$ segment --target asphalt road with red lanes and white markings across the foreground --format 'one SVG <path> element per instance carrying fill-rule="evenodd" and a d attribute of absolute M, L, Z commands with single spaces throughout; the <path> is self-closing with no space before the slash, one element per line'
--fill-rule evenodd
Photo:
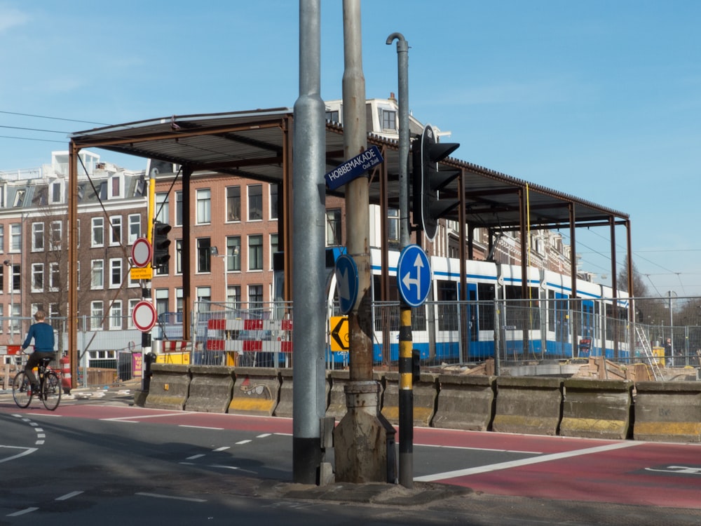
<path fill-rule="evenodd" d="M 700 445 L 415 429 L 411 490 L 310 487 L 292 483 L 290 419 L 74 393 L 55 412 L 0 393 L 0 526 L 701 523 Z"/>

